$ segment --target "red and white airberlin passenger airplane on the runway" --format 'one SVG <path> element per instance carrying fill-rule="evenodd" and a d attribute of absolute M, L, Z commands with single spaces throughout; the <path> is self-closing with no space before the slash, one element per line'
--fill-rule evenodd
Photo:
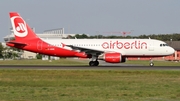
<path fill-rule="evenodd" d="M 127 57 L 152 58 L 175 52 L 156 39 L 41 39 L 17 12 L 9 15 L 15 40 L 6 42 L 7 46 L 49 56 L 90 58 L 89 66 L 98 66 L 98 60 L 123 63 Z"/>

